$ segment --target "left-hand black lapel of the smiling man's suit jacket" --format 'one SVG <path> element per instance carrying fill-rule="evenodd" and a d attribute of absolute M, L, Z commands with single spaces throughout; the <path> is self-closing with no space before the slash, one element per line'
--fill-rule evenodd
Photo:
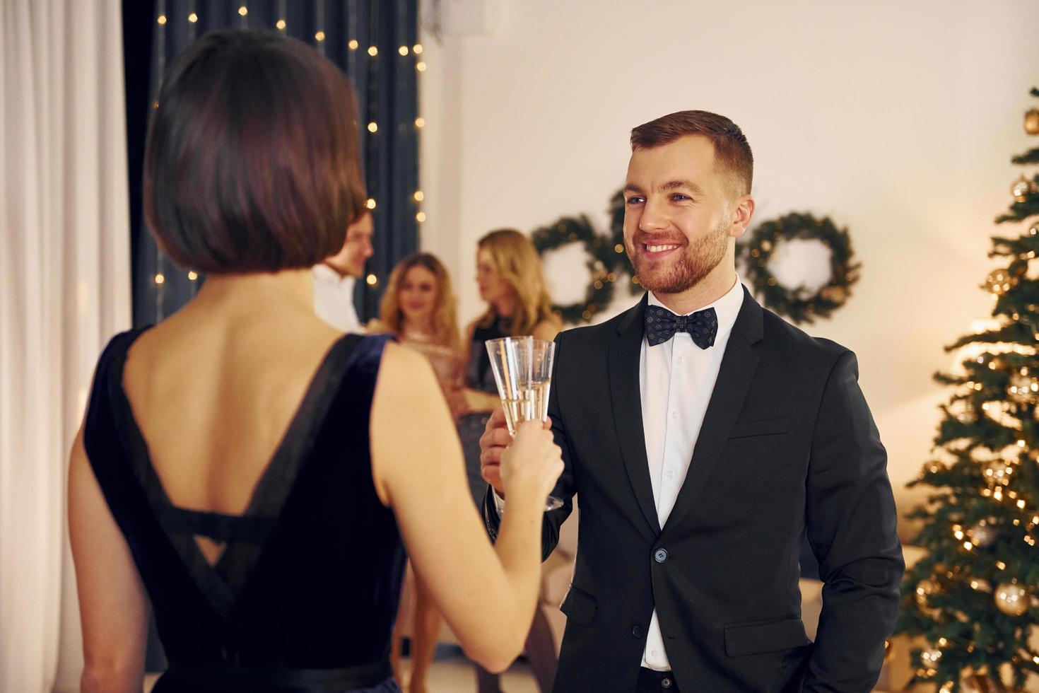
<path fill-rule="evenodd" d="M 647 295 L 631 309 L 617 327 L 617 339 L 610 344 L 610 394 L 613 421 L 620 443 L 620 453 L 628 479 L 639 508 L 652 532 L 660 535 L 657 506 L 652 500 L 649 463 L 646 460 L 645 434 L 642 428 L 642 393 L 639 388 L 639 352 L 642 347 L 643 316 Z"/>

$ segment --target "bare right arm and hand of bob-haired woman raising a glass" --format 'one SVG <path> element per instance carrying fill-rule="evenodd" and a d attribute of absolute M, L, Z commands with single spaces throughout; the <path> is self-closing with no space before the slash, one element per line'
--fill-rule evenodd
<path fill-rule="evenodd" d="M 451 630 L 491 671 L 523 649 L 537 598 L 544 496 L 562 469 L 551 434 L 531 424 L 516 444 L 521 437 L 513 453 L 523 464 L 506 482 L 509 511 L 491 547 L 432 370 L 421 355 L 387 346 L 372 404 L 376 488 Z"/>

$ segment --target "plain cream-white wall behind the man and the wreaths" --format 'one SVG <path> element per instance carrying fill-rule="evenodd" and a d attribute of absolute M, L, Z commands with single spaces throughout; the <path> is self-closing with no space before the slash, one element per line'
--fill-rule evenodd
<path fill-rule="evenodd" d="M 480 308 L 480 235 L 582 212 L 605 232 L 631 128 L 723 113 L 754 151 L 758 220 L 807 210 L 850 228 L 862 278 L 807 330 L 858 353 L 893 481 L 913 477 L 942 346 L 990 308 L 978 286 L 1010 156 L 1039 144 L 1021 128 L 1039 3 L 446 0 L 488 3 L 490 34 L 424 38 L 422 240 L 453 271 L 462 319 Z M 612 313 L 634 302 L 619 295 Z"/>

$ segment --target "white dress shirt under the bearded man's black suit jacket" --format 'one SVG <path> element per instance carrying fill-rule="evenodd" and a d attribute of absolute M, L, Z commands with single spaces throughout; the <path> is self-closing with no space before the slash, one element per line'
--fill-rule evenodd
<path fill-rule="evenodd" d="M 666 308 L 652 293 L 649 294 L 649 305 Z M 705 311 L 713 306 L 718 315 L 718 334 L 714 346 L 708 349 L 696 346 L 689 332 L 675 332 L 672 339 L 657 346 L 649 346 L 645 338 L 642 339 L 639 352 L 642 427 L 652 500 L 661 527 L 667 523 L 678 490 L 686 481 L 703 415 L 725 354 L 725 345 L 741 305 L 743 285 L 737 277 L 728 293 L 711 305 L 699 309 Z M 658 671 L 671 668 L 664 651 L 664 637 L 656 609 L 646 631 L 642 666 Z"/>

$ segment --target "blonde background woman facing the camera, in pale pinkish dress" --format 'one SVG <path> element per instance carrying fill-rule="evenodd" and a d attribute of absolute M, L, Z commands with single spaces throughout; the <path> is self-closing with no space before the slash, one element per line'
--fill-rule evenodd
<path fill-rule="evenodd" d="M 379 305 L 379 319 L 369 325 L 368 331 L 391 332 L 404 346 L 424 354 L 432 365 L 445 396 L 457 392 L 464 364 L 458 334 L 457 299 L 451 288 L 451 276 L 435 256 L 416 252 L 397 263 Z M 425 693 L 442 617 L 422 576 L 414 571 L 411 575 L 415 578 L 411 583 L 415 587 L 415 612 L 407 690 Z M 398 679 L 401 678 L 402 627 L 398 617 L 391 652 Z"/>

